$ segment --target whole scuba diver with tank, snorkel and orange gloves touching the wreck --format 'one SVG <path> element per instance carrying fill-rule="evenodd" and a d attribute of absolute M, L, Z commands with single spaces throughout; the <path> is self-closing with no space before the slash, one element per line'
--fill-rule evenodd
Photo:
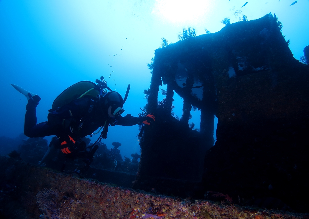
<path fill-rule="evenodd" d="M 108 126 L 133 126 L 142 123 L 150 125 L 155 121 L 152 113 L 144 117 L 133 117 L 130 114 L 121 116 L 125 111 L 123 105 L 128 97 L 130 84 L 123 99 L 118 92 L 112 91 L 107 86 L 103 76 L 101 80 L 97 79 L 95 82 L 97 84 L 91 81 L 80 81 L 64 90 L 54 100 L 47 116 L 48 121 L 39 124 L 36 124 L 36 106 L 41 98 L 18 85 L 11 84 L 28 99 L 24 134 L 29 138 L 57 136 L 52 138 L 40 164 L 53 159 L 57 149 L 61 149 L 66 158 L 83 159 L 83 164 L 74 171 L 75 175 L 80 176 L 90 167 L 101 140 L 107 138 Z M 99 127 L 103 128 L 99 138 L 94 144 L 86 147 L 83 138 L 98 134 L 101 129 L 94 132 Z"/>

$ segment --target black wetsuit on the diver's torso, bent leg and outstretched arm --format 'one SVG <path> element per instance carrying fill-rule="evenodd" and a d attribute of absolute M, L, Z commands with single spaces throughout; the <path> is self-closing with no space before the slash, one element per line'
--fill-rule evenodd
<path fill-rule="evenodd" d="M 127 114 L 118 116 L 117 125 L 133 126 L 141 124 L 145 118 L 133 117 Z M 83 138 L 92 134 L 99 127 L 108 124 L 107 115 L 102 113 L 98 101 L 86 96 L 62 106 L 48 114 L 48 121 L 36 124 L 36 104 L 29 101 L 26 106 L 24 134 L 30 138 L 56 135 Z"/>

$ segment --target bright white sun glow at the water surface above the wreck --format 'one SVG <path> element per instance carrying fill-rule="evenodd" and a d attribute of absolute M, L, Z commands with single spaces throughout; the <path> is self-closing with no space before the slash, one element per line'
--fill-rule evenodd
<path fill-rule="evenodd" d="M 171 23 L 195 23 L 210 8 L 210 2 L 200 0 L 156 0 L 153 14 Z"/>

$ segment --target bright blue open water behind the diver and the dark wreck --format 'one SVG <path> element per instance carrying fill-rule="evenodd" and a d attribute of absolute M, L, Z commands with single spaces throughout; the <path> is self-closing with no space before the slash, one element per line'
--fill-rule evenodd
<path fill-rule="evenodd" d="M 296 59 L 309 44 L 309 0 L 205 0 L 205 1 L 0 1 L 0 136 L 15 138 L 23 132 L 27 100 L 11 83 L 40 95 L 38 122 L 64 89 L 78 81 L 104 76 L 108 86 L 125 95 L 131 85 L 125 114 L 137 116 L 144 107 L 144 89 L 150 86 L 147 64 L 161 38 L 178 41 L 182 28 L 194 27 L 197 35 L 220 31 L 222 19 L 238 22 L 273 13 L 283 24 Z M 243 6 L 243 7 L 242 7 Z M 163 89 L 166 89 L 164 85 Z M 163 96 L 159 93 L 159 100 Z M 174 112 L 182 115 L 182 100 L 174 96 Z M 199 128 L 200 113 L 190 122 Z M 122 156 L 140 153 L 138 126 L 115 126 L 104 140 L 122 144 Z M 96 140 L 96 136 L 92 141 Z M 215 136 L 214 136 L 215 138 Z M 48 138 L 50 139 L 50 138 Z M 0 151 L 1 154 L 1 151 Z"/>

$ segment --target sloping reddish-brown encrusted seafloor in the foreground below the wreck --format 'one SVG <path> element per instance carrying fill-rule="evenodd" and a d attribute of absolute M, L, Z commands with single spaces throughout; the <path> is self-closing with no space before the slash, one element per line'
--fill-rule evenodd
<path fill-rule="evenodd" d="M 155 195 L 14 158 L 0 157 L 0 165 L 1 218 L 309 218 L 307 213 Z"/>

